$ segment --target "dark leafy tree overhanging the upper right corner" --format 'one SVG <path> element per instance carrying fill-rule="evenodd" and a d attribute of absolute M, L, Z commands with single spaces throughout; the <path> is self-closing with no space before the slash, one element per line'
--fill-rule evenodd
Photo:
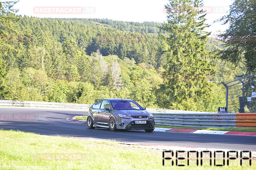
<path fill-rule="evenodd" d="M 248 73 L 256 71 L 256 1 L 234 0 L 229 14 L 220 19 L 229 28 L 220 37 L 225 50 L 220 51 L 223 60 L 236 65 L 245 61 Z"/>

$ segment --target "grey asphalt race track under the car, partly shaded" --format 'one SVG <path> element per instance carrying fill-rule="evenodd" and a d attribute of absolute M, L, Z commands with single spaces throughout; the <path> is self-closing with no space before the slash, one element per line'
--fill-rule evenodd
<path fill-rule="evenodd" d="M 6 115 L 25 115 L 29 121 L 6 119 Z M 0 129 L 34 132 L 42 135 L 60 135 L 65 137 L 115 139 L 153 145 L 171 145 L 187 147 L 218 148 L 230 150 L 256 151 L 255 136 L 192 134 L 177 132 L 116 131 L 108 129 L 88 129 L 85 124 L 67 121 L 76 115 L 87 115 L 88 111 L 0 107 Z"/>

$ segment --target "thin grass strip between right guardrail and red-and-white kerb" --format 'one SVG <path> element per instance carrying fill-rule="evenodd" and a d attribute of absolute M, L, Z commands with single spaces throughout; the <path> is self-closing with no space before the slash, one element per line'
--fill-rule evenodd
<path fill-rule="evenodd" d="M 198 129 L 198 130 L 212 130 L 212 131 L 241 131 L 241 132 L 256 132 L 256 129 L 249 128 L 214 128 L 214 127 L 182 127 L 182 126 L 168 126 L 156 125 L 159 128 L 174 128 L 174 129 Z"/>

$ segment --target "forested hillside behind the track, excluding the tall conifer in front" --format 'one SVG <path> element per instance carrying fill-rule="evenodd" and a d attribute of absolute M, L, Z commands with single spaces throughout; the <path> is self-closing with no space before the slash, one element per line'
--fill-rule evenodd
<path fill-rule="evenodd" d="M 216 110 L 222 99 L 216 102 L 215 97 L 206 101 L 199 96 L 200 104 L 194 99 L 183 104 L 163 103 L 166 77 L 162 73 L 167 56 L 160 53 L 164 45 L 158 35 L 160 25 L 20 16 L 13 23 L 15 34 L 0 37 L 5 45 L 0 46 L 0 57 L 7 66 L 5 94 L 0 98 L 91 103 L 94 98 L 122 96 L 146 107 Z M 221 41 L 209 38 L 205 48 L 214 51 L 223 47 Z M 216 64 L 218 72 L 212 80 L 233 76 L 230 65 L 218 58 L 208 60 Z M 213 86 L 212 96 L 224 94 L 218 84 Z"/>

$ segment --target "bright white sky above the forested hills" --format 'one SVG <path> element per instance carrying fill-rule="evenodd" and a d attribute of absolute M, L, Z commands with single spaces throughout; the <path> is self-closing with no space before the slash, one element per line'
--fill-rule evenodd
<path fill-rule="evenodd" d="M 14 8 L 19 10 L 18 15 L 38 18 L 108 18 L 163 23 L 167 3 L 168 0 L 20 0 Z M 212 32 L 211 37 L 224 32 L 228 25 L 213 22 L 227 14 L 232 0 L 203 0 L 203 3 L 208 11 L 206 23 L 211 25 L 206 31 Z M 61 12 L 67 9 L 69 11 Z"/>

